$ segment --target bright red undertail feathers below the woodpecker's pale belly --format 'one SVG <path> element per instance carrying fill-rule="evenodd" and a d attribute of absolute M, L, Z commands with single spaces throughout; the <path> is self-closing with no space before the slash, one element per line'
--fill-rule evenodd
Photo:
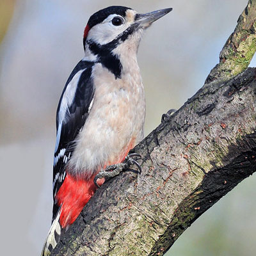
<path fill-rule="evenodd" d="M 67 174 L 56 198 L 61 205 L 60 225 L 62 228 L 71 225 L 84 205 L 88 203 L 97 187 L 93 183 L 94 175 L 90 180 L 76 179 Z M 100 185 L 100 184 L 99 184 Z"/>

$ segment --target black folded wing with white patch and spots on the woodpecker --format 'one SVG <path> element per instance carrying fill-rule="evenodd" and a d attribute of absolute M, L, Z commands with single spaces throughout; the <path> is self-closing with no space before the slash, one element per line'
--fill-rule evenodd
<path fill-rule="evenodd" d="M 53 166 L 53 209 L 52 221 L 58 213 L 55 199 L 56 193 L 66 176 L 65 165 L 72 156 L 72 142 L 83 128 L 89 114 L 95 88 L 92 83 L 92 67 L 90 61 L 80 61 L 65 84 L 61 94 L 56 115 L 57 138 Z"/>

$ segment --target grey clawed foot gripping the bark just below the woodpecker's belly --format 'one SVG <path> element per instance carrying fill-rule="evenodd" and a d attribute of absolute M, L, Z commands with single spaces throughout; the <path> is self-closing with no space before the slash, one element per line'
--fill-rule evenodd
<path fill-rule="evenodd" d="M 120 172 L 123 172 L 124 170 L 127 170 L 132 164 L 135 164 L 138 167 L 138 170 L 141 173 L 141 166 L 140 164 L 133 159 L 132 157 L 138 157 L 138 159 L 141 158 L 140 154 L 132 153 L 125 157 L 123 163 L 118 164 L 111 164 L 109 165 L 105 170 L 101 170 L 93 179 L 94 184 L 100 188 L 100 186 L 97 184 L 98 179 L 104 178 L 105 181 L 109 180 L 116 175 L 118 175 Z"/>

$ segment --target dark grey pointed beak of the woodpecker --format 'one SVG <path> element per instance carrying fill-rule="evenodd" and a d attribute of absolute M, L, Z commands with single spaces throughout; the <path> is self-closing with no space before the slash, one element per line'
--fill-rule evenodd
<path fill-rule="evenodd" d="M 154 12 L 144 13 L 144 14 L 136 14 L 135 16 L 135 22 L 138 22 L 141 26 L 144 28 L 147 28 L 150 26 L 154 21 L 160 19 L 167 13 L 171 12 L 172 8 L 166 8 L 163 10 L 158 10 Z"/>

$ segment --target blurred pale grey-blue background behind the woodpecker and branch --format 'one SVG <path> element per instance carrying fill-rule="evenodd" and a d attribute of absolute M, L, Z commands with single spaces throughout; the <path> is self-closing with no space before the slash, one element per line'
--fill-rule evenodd
<path fill-rule="evenodd" d="M 204 84 L 247 0 L 1 0 L 1 255 L 40 255 L 51 225 L 55 114 L 83 29 L 109 5 L 173 7 L 141 41 L 145 135 Z M 251 66 L 256 66 L 252 61 Z M 166 255 L 255 255 L 256 176 L 244 180 L 182 234 Z M 121 256 L 121 255 L 120 255 Z"/>

